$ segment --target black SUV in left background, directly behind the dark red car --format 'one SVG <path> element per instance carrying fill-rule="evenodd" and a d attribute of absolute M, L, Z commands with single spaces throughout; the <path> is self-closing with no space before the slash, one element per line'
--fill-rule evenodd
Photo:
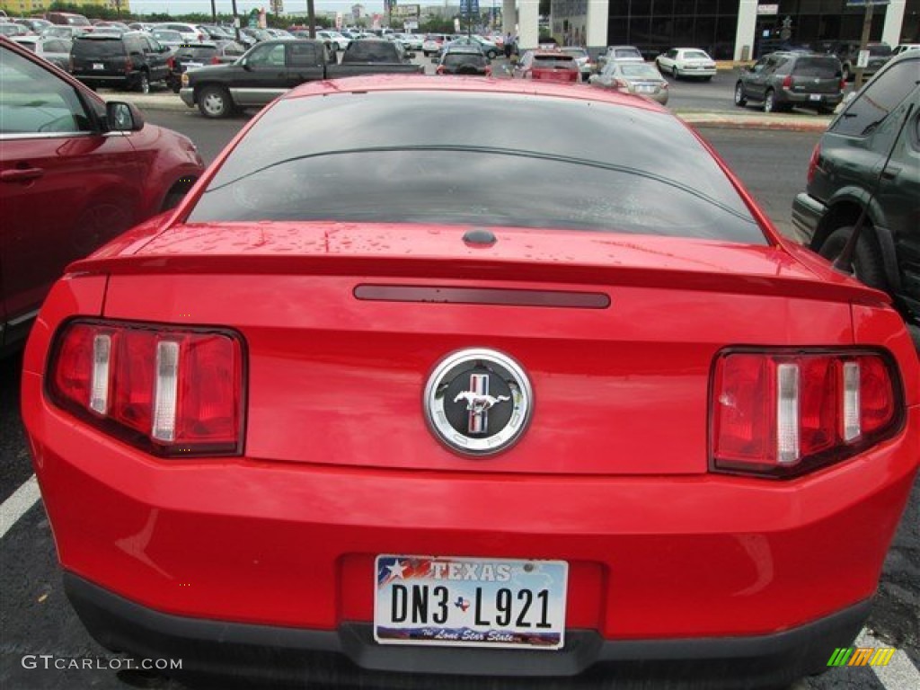
<path fill-rule="evenodd" d="M 70 71 L 87 86 L 150 92 L 166 82 L 172 51 L 143 31 L 77 36 L 70 50 Z"/>

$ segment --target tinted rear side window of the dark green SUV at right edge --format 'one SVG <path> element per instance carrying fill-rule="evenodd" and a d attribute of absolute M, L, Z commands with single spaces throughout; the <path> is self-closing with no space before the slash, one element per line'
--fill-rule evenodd
<path fill-rule="evenodd" d="M 831 131 L 867 136 L 916 88 L 920 60 L 904 60 L 873 79 L 831 125 Z"/>

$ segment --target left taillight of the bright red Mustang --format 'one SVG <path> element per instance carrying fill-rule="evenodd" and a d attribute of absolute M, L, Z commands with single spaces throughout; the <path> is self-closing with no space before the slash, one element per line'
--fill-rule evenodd
<path fill-rule="evenodd" d="M 227 331 L 76 321 L 57 336 L 49 393 L 154 454 L 240 454 L 243 367 Z"/>

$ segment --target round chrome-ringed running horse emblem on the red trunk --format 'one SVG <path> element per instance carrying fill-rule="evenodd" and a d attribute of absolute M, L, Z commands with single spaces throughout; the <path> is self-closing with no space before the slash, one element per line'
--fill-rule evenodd
<path fill-rule="evenodd" d="M 533 390 L 521 365 L 494 350 L 448 355 L 425 386 L 431 431 L 466 455 L 495 454 L 517 442 L 533 407 Z"/>

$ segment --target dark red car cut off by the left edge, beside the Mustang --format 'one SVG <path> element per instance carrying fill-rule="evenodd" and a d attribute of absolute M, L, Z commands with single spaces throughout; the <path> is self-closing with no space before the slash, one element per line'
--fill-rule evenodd
<path fill-rule="evenodd" d="M 67 264 L 174 207 L 204 166 L 186 137 L 144 124 L 127 103 L 107 105 L 26 48 L 0 39 L 0 64 L 0 353 L 9 353 Z"/>

